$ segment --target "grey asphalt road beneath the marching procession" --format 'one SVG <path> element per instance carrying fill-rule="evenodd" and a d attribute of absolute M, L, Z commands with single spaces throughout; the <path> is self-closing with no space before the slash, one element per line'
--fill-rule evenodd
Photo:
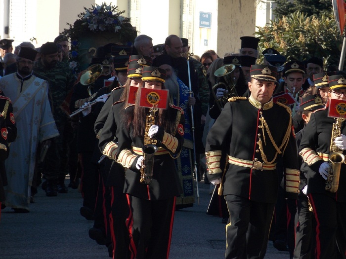
<path fill-rule="evenodd" d="M 66 179 L 66 182 L 68 180 Z M 199 183 L 200 205 L 175 213 L 170 259 L 222 259 L 225 224 L 206 215 L 209 185 Z M 2 210 L 0 221 L 1 259 L 106 259 L 107 248 L 88 236 L 92 221 L 79 214 L 82 198 L 78 190 L 46 197 L 39 188 L 30 213 Z M 289 259 L 268 243 L 267 259 Z"/>

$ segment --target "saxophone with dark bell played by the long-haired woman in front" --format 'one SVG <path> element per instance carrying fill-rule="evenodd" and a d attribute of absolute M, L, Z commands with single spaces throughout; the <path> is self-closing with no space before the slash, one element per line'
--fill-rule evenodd
<path fill-rule="evenodd" d="M 145 122 L 145 133 L 144 133 L 144 146 L 142 147 L 143 152 L 143 161 L 142 166 L 140 167 L 140 182 L 149 184 L 153 178 L 154 170 L 154 156 L 157 151 L 157 140 L 154 140 L 148 136 L 149 128 L 152 125 L 155 125 L 155 112 L 157 111 L 156 107 L 152 107 L 149 110 L 149 114 L 146 117 Z"/>

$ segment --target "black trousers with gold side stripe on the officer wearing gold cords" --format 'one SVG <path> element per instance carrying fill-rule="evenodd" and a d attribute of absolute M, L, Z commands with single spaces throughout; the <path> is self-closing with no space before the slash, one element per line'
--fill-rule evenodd
<path fill-rule="evenodd" d="M 230 223 L 226 226 L 225 258 L 264 258 L 274 203 L 226 195 Z"/>

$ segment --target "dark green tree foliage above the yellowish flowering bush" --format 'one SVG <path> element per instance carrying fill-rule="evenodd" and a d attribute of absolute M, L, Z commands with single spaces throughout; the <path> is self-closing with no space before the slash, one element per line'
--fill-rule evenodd
<path fill-rule="evenodd" d="M 276 8 L 273 13 L 276 18 L 282 18 L 288 16 L 293 12 L 303 12 L 308 16 L 319 16 L 323 12 L 331 10 L 332 3 L 330 0 L 275 0 Z"/>

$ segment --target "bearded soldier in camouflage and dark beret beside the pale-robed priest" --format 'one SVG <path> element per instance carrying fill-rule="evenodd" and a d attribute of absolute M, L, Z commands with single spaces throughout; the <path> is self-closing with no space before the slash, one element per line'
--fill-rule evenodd
<path fill-rule="evenodd" d="M 47 42 L 40 49 L 40 58 L 34 64 L 37 74 L 49 78 L 49 90 L 52 94 L 53 117 L 60 136 L 55 137 L 48 148 L 44 161 L 44 174 L 47 181 L 46 195 L 56 196 L 57 192 L 66 193 L 64 184 L 67 175 L 68 139 L 71 136 L 69 116 L 60 108 L 72 89 L 75 77 L 65 63 L 57 60 L 58 47 Z"/>

